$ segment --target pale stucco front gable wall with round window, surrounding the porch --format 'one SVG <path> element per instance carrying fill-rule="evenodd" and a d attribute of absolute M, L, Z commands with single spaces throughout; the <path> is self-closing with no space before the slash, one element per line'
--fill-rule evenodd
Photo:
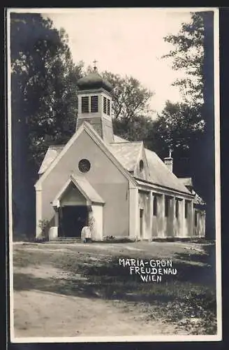
<path fill-rule="evenodd" d="M 87 158 L 91 163 L 91 169 L 85 174 L 78 169 L 78 162 L 82 158 Z M 129 234 L 128 179 L 84 131 L 43 180 L 40 217 L 50 221 L 54 218 L 52 201 L 72 172 L 76 176 L 84 176 L 105 201 L 103 236 L 127 237 Z"/>

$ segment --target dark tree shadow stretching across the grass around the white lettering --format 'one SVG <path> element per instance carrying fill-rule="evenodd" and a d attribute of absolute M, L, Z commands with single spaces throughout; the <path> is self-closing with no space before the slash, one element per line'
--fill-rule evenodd
<path fill-rule="evenodd" d="M 63 269 L 64 276 L 37 278 L 34 274 L 15 272 L 14 289 L 154 304 L 179 303 L 185 304 L 189 314 L 195 309 L 195 316 L 203 311 L 215 314 L 214 248 L 204 254 L 177 254 L 175 258 L 173 267 L 177 274 L 162 276 L 161 283 L 145 283 L 139 274 L 131 275 L 128 267 L 120 266 L 119 257 L 107 259 L 99 256 L 97 260 L 89 261 L 84 254 L 61 258 L 50 255 L 50 262 Z"/>

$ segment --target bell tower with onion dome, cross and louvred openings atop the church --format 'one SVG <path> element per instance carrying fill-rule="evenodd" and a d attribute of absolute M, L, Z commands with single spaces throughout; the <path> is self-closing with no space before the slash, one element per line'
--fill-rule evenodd
<path fill-rule="evenodd" d="M 112 127 L 112 85 L 98 73 L 96 61 L 94 71 L 77 81 L 78 116 L 76 130 L 84 121 L 91 124 L 103 141 L 114 141 Z"/>

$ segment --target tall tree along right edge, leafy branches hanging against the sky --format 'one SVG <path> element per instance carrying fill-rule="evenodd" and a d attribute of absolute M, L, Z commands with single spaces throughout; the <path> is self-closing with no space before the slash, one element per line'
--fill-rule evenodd
<path fill-rule="evenodd" d="M 195 177 L 195 188 L 207 202 L 207 235 L 214 237 L 214 12 L 191 14 L 191 22 L 183 23 L 177 35 L 165 37 L 172 43 L 168 57 L 172 67 L 184 71 L 185 78 L 174 85 L 180 87 L 184 102 L 194 106 L 200 120 L 204 120 L 204 132 L 192 144 L 190 165 Z"/>

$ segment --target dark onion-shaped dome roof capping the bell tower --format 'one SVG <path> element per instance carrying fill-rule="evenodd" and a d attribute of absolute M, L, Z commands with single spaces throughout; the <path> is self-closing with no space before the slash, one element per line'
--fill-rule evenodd
<path fill-rule="evenodd" d="M 84 76 L 84 78 L 81 78 L 77 81 L 77 86 L 79 87 L 79 90 L 93 90 L 93 89 L 99 89 L 103 87 L 103 89 L 110 92 L 113 87 L 109 83 L 108 80 L 104 79 L 97 71 L 96 67 L 94 67 L 94 71 L 89 73 L 87 76 Z"/>

